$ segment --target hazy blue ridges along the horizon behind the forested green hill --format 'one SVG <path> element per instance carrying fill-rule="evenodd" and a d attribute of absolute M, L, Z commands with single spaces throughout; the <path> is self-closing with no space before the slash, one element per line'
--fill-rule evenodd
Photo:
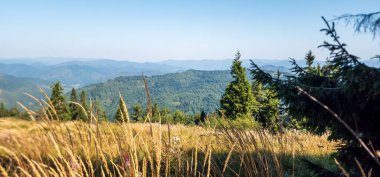
<path fill-rule="evenodd" d="M 54 58 L 53 58 L 54 60 Z M 161 62 L 130 62 L 109 59 L 86 60 L 81 58 L 61 59 L 57 62 L 41 59 L 0 60 L 0 73 L 16 77 L 37 78 L 45 81 L 60 81 L 67 89 L 104 82 L 118 76 L 146 76 L 195 70 L 228 70 L 232 60 L 166 60 Z M 70 60 L 70 61 L 69 61 Z M 286 60 L 255 60 L 266 70 L 288 71 Z M 243 65 L 249 67 L 248 60 Z"/>

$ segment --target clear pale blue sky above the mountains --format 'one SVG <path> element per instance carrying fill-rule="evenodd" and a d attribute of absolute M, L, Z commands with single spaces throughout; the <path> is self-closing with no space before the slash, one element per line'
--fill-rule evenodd
<path fill-rule="evenodd" d="M 2 0 L 0 58 L 325 58 L 321 16 L 379 10 L 379 0 Z M 337 29 L 352 53 L 380 53 L 380 38 Z"/>

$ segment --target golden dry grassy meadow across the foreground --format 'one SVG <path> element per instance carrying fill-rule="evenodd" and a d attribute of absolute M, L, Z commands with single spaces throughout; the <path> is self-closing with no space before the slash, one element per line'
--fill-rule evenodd
<path fill-rule="evenodd" d="M 0 119 L 0 176 L 311 176 L 327 135 L 150 123 Z"/>

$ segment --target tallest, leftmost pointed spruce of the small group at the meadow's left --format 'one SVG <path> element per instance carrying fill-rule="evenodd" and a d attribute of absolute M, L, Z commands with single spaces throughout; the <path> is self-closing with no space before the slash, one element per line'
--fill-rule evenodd
<path fill-rule="evenodd" d="M 63 87 L 62 87 L 61 83 L 59 81 L 54 83 L 51 86 L 51 89 L 52 89 L 52 93 L 51 93 L 50 100 L 53 104 L 52 106 L 53 106 L 54 110 L 57 113 L 57 119 L 58 120 L 70 120 L 70 111 L 69 111 L 69 107 L 67 106 L 65 97 L 63 96 Z M 52 111 L 52 110 L 50 109 L 50 111 Z M 55 115 L 53 115 L 53 116 L 55 116 Z"/>

